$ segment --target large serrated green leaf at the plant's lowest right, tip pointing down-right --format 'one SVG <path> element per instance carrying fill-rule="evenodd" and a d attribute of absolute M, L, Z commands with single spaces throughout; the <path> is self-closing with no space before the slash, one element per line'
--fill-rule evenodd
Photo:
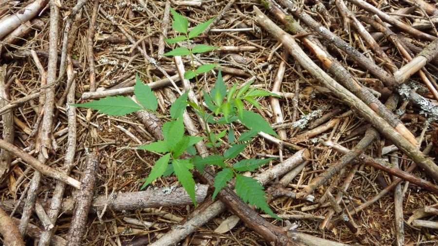
<path fill-rule="evenodd" d="M 265 211 L 277 220 L 282 220 L 269 207 L 266 202 L 265 192 L 263 186 L 254 178 L 236 175 L 236 193 L 244 202 L 251 205 L 256 205 L 257 208 Z"/>

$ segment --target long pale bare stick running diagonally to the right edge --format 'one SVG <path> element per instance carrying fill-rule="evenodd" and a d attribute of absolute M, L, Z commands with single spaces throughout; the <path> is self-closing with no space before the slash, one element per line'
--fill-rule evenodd
<path fill-rule="evenodd" d="M 333 94 L 343 100 L 352 109 L 357 111 L 366 121 L 372 123 L 384 136 L 393 141 L 406 155 L 412 158 L 422 168 L 426 170 L 426 174 L 438 180 L 438 166 L 429 157 L 423 155 L 412 143 L 407 141 L 400 133 L 398 133 L 389 123 L 383 120 L 376 112 L 369 108 L 354 94 L 346 88 L 339 85 L 333 80 L 324 70 L 319 68 L 307 54 L 296 44 L 294 38 L 281 30 L 269 18 L 255 7 L 257 22 L 266 29 L 271 35 L 283 43 L 283 46 L 288 50 L 295 60 L 306 69 L 314 78 L 320 81 L 325 87 L 329 88 Z"/>

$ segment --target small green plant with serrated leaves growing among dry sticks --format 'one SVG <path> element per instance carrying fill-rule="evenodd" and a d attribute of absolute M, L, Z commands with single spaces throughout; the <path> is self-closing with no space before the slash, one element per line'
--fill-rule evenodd
<path fill-rule="evenodd" d="M 173 9 L 171 9 L 171 13 L 173 16 L 172 27 L 174 31 L 181 35 L 166 39 L 165 41 L 169 44 L 190 41 L 200 35 L 214 20 L 214 18 L 209 19 L 195 26 L 191 31 L 188 31 L 188 19 Z M 219 191 L 227 185 L 227 182 L 235 178 L 236 193 L 244 202 L 255 205 L 274 218 L 280 219 L 269 207 L 263 186 L 258 183 L 256 179 L 242 175 L 242 172 L 255 171 L 259 166 L 271 161 L 273 158 L 251 158 L 234 162 L 245 147 L 253 141 L 253 138 L 258 132 L 277 136 L 270 124 L 262 116 L 253 111 L 244 109 L 243 102 L 246 101 L 260 108 L 260 105 L 256 101 L 257 97 L 277 95 L 265 90 L 250 88 L 252 83 L 246 83 L 240 88 L 238 88 L 238 84 L 235 83 L 232 88 L 227 90 L 220 70 L 216 84 L 211 92 L 207 93 L 202 89 L 202 93 L 200 93 L 201 87 L 197 75 L 209 72 L 219 64 L 204 64 L 195 68 L 194 54 L 210 52 L 216 49 L 219 48 L 208 45 L 196 45 L 191 48 L 178 47 L 168 53 L 164 53 L 166 56 L 183 55 L 189 57 L 191 69 L 185 72 L 184 78 L 195 79 L 198 94 L 203 94 L 203 98 L 201 97 L 200 104 L 198 105 L 187 100 L 188 91 L 180 95 L 170 106 L 170 117 L 172 120 L 163 124 L 164 140 L 151 142 L 138 147 L 139 149 L 163 154 L 163 156 L 155 162 L 149 176 L 144 180 L 145 183 L 142 189 L 158 177 L 175 174 L 196 206 L 195 181 L 191 170 L 196 168 L 203 173 L 206 165 L 214 165 L 218 166 L 221 170 L 215 176 L 213 199 Z M 134 95 L 138 103 L 129 97 L 116 96 L 106 97 L 84 104 L 77 104 L 75 106 L 98 109 L 101 113 L 108 115 L 125 115 L 137 110 L 155 111 L 157 109 L 157 98 L 152 90 L 142 83 L 138 75 L 136 75 Z M 186 110 L 187 105 L 190 105 L 191 109 L 200 115 L 202 121 L 205 123 L 205 137 L 184 135 L 183 112 Z M 214 130 L 209 130 L 209 124 L 217 128 L 219 125 L 236 121 L 240 121 L 240 123 L 245 125 L 249 130 L 243 132 L 240 137 L 235 140 L 234 131 L 230 126 L 227 136 L 230 147 L 223 151 L 223 153 L 220 153 L 218 148 L 223 144 L 227 130 L 216 134 Z M 200 155 L 197 155 L 193 145 L 204 139 L 206 139 L 207 142 L 205 145 L 211 149 L 211 153 L 209 153 L 209 156 L 202 158 Z M 191 155 L 192 158 L 181 158 L 185 152 Z"/>

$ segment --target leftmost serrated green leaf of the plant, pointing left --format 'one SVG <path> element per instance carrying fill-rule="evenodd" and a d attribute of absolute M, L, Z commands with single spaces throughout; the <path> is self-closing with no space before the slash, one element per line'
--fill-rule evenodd
<path fill-rule="evenodd" d="M 115 96 L 105 97 L 100 100 L 94 100 L 83 104 L 72 104 L 75 107 L 86 107 L 99 110 L 100 113 L 108 115 L 126 115 L 143 109 L 129 97 Z"/>

